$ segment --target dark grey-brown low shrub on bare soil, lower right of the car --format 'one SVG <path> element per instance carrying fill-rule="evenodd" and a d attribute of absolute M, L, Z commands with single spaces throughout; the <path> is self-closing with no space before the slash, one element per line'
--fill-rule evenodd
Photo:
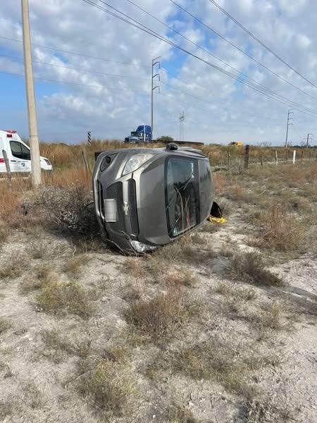
<path fill-rule="evenodd" d="M 282 285 L 282 280 L 265 268 L 263 259 L 257 252 L 240 252 L 235 255 L 230 271 L 236 278 L 253 285 Z"/>

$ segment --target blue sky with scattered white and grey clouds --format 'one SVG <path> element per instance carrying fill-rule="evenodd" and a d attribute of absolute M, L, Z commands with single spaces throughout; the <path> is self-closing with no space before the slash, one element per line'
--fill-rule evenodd
<path fill-rule="evenodd" d="M 41 140 L 78 142 L 87 130 L 94 137 L 123 140 L 137 125 L 149 124 L 151 59 L 161 56 L 161 68 L 155 68 L 160 75 L 154 91 L 155 136 L 179 138 L 184 111 L 186 140 L 279 145 L 285 142 L 287 109 L 292 108 L 290 142 L 300 144 L 313 133 L 316 143 L 316 1 L 216 0 L 306 80 L 210 0 L 89 1 L 116 14 L 110 6 L 117 8 L 126 20 L 137 20 L 231 76 L 83 0 L 29 0 Z M 20 0 L 3 0 L 0 128 L 26 136 L 21 39 Z"/>

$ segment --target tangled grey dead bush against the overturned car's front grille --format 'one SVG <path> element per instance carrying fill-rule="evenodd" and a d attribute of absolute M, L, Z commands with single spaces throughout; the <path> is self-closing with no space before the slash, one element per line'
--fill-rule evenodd
<path fill-rule="evenodd" d="M 86 185 L 43 186 L 32 205 L 63 231 L 89 235 L 99 233 L 92 196 Z"/>

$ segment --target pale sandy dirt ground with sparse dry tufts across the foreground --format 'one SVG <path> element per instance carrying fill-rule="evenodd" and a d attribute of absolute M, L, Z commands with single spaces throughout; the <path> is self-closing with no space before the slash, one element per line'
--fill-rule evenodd
<path fill-rule="evenodd" d="M 227 223 L 146 257 L 83 252 L 58 231 L 11 231 L 0 253 L 0 421 L 316 422 L 316 252 L 266 249 L 277 283 L 232 273 L 232 257 L 262 251 L 246 214 L 265 209 L 232 192 L 222 192 Z M 52 305 L 44 278 L 80 284 L 87 313 L 74 298 Z M 185 314 L 164 326 L 150 300 L 168 298 L 172 284 Z M 127 314 L 140 302 L 143 326 L 144 315 Z M 150 326 L 154 317 L 166 331 Z"/>

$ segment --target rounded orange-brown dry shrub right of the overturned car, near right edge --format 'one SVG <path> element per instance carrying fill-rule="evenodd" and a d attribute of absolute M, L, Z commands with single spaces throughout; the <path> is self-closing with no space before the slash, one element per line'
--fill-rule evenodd
<path fill-rule="evenodd" d="M 273 204 L 263 215 L 263 245 L 274 250 L 292 251 L 302 247 L 305 232 L 303 226 L 287 215 L 285 207 Z"/>

